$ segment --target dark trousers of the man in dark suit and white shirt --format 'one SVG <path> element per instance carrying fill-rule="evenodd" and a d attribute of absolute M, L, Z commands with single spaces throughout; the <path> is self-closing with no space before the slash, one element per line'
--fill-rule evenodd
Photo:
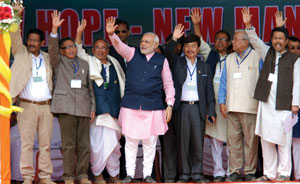
<path fill-rule="evenodd" d="M 198 104 L 180 104 L 174 114 L 177 121 L 179 179 L 195 181 L 203 175 L 203 144 L 205 121 Z"/>

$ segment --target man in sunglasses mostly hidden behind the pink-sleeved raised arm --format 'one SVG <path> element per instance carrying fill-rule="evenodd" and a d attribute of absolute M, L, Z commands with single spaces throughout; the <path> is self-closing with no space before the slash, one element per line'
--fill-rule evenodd
<path fill-rule="evenodd" d="M 115 32 L 116 35 L 118 35 L 118 37 L 120 38 L 120 40 L 122 40 L 123 43 L 128 45 L 128 37 L 130 35 L 129 24 L 126 21 L 119 19 L 116 21 L 116 25 L 118 25 Z M 111 55 L 119 61 L 124 73 L 126 73 L 126 60 L 115 50 L 113 46 L 109 47 L 109 55 Z"/>

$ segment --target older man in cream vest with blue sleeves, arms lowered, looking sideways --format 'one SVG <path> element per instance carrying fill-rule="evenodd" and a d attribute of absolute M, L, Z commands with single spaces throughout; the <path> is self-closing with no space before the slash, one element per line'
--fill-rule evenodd
<path fill-rule="evenodd" d="M 245 180 L 253 181 L 258 149 L 258 137 L 254 134 L 258 101 L 253 95 L 263 61 L 251 49 L 244 30 L 235 31 L 232 47 L 235 52 L 224 63 L 218 99 L 221 114 L 228 120 L 230 177 L 227 181 L 241 181 L 244 158 Z"/>

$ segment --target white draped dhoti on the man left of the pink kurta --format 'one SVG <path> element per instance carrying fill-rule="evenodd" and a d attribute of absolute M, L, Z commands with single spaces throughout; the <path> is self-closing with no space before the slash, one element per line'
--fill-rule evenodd
<path fill-rule="evenodd" d="M 95 176 L 99 176 L 106 168 L 109 175 L 115 177 L 120 172 L 121 146 L 119 140 L 121 132 L 116 130 L 117 119 L 108 116 L 110 115 L 98 116 L 90 126 L 90 163 Z"/>

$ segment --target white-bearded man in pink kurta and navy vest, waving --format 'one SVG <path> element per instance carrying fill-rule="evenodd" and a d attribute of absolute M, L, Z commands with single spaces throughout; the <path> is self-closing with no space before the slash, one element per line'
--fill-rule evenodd
<path fill-rule="evenodd" d="M 155 183 L 151 178 L 158 135 L 168 130 L 172 116 L 175 89 L 167 59 L 154 51 L 159 39 L 154 33 L 145 33 L 140 49 L 124 44 L 115 34 L 115 18 L 106 20 L 106 32 L 116 51 L 126 59 L 125 94 L 121 101 L 119 123 L 126 139 L 125 157 L 127 177 L 123 183 L 132 183 L 135 161 L 140 141 L 143 143 L 143 175 L 145 183 Z M 166 110 L 163 104 L 166 94 Z"/>

